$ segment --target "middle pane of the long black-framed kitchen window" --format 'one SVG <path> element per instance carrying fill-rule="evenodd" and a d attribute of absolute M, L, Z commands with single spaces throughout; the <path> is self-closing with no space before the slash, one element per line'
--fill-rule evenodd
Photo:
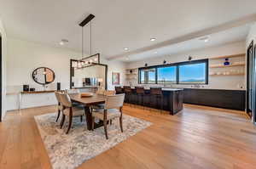
<path fill-rule="evenodd" d="M 157 83 L 176 83 L 176 66 L 166 66 L 157 69 Z"/>

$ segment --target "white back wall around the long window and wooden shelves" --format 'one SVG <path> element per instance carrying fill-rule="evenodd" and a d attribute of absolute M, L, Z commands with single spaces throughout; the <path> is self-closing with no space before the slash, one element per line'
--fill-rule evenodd
<path fill-rule="evenodd" d="M 245 53 L 246 42 L 234 42 L 230 44 L 221 45 L 212 48 L 202 48 L 193 51 L 185 52 L 183 54 L 173 54 L 172 56 L 162 56 L 158 58 L 152 58 L 142 61 L 131 62 L 126 65 L 128 69 L 143 67 L 145 63 L 149 65 L 162 65 L 165 59 L 167 63 L 183 62 L 188 60 L 188 56 L 192 56 L 195 59 L 207 59 L 214 56 L 230 55 L 230 54 L 243 54 Z M 245 61 L 245 58 L 230 59 L 232 61 Z M 210 60 L 211 64 L 221 64 L 221 60 Z M 214 68 L 215 69 L 215 68 Z M 217 68 L 217 69 L 241 69 L 245 70 L 244 67 L 232 67 L 232 68 Z M 209 70 L 213 71 L 212 69 Z M 221 71 L 221 70 L 214 70 Z M 192 87 L 191 85 L 172 85 L 172 87 Z M 202 85 L 205 88 L 214 89 L 232 89 L 232 90 L 244 90 L 245 89 L 245 76 L 209 76 L 209 84 Z"/>

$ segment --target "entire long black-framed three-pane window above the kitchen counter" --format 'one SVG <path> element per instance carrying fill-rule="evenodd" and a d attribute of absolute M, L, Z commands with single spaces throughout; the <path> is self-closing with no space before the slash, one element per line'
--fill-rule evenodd
<path fill-rule="evenodd" d="M 208 59 L 139 68 L 140 84 L 208 84 Z"/>

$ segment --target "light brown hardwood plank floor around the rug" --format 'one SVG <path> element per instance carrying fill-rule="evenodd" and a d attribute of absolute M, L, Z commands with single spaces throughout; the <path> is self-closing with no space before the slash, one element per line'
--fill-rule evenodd
<path fill-rule="evenodd" d="M 55 106 L 9 112 L 0 123 L 0 168 L 51 168 L 33 115 Z M 256 168 L 256 127 L 241 111 L 184 105 L 177 115 L 124 107 L 154 124 L 79 168 Z"/>

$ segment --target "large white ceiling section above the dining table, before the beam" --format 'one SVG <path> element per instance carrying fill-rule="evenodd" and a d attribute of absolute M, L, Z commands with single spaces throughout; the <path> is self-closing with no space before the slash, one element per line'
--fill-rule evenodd
<path fill-rule="evenodd" d="M 78 51 L 81 48 L 79 22 L 88 14 L 95 14 L 92 22 L 93 53 L 99 52 L 112 59 L 124 57 L 124 48 L 129 48 L 128 53 L 132 53 L 246 18 L 256 11 L 255 0 L 0 0 L 0 4 L 0 18 L 8 36 L 55 46 L 59 46 L 64 38 L 69 40 L 64 48 Z M 239 34 L 234 40 L 241 39 L 247 28 L 237 29 L 233 34 L 233 31 L 229 32 L 230 35 Z M 85 27 L 84 31 L 84 48 L 89 51 L 89 27 Z M 150 42 L 151 37 L 157 37 L 157 40 Z M 221 35 L 216 38 L 219 37 Z M 229 39 L 231 41 L 231 37 Z M 184 48 L 189 48 L 191 44 L 187 40 L 183 39 Z M 171 52 L 179 44 L 175 45 Z M 195 46 L 198 48 L 200 45 Z M 169 50 L 161 48 L 163 54 Z M 150 50 L 143 52 L 152 56 Z M 139 58 L 141 52 L 133 54 L 138 54 Z"/>

